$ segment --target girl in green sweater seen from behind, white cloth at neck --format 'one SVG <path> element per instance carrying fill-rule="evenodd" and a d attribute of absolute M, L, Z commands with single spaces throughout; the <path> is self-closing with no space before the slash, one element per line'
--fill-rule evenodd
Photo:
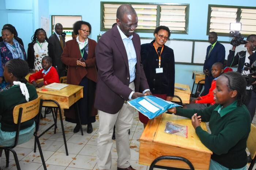
<path fill-rule="evenodd" d="M 28 73 L 29 66 L 22 59 L 12 59 L 4 66 L 4 79 L 11 87 L 0 92 L 0 146 L 14 145 L 17 128 L 12 115 L 14 107 L 37 98 L 35 87 L 25 79 Z M 34 129 L 34 119 L 21 123 L 18 145 L 29 141 L 33 137 Z M 2 151 L 0 150 L 0 161 Z"/>

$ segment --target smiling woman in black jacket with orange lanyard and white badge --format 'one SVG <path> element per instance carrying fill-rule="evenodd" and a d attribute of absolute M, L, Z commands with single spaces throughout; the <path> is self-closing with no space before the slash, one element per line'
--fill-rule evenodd
<path fill-rule="evenodd" d="M 171 101 L 174 95 L 174 53 L 172 48 L 165 46 L 170 30 L 168 27 L 159 26 L 155 29 L 154 36 L 151 43 L 141 45 L 143 69 L 152 94 Z M 145 127 L 148 118 L 139 113 L 139 119 Z"/>

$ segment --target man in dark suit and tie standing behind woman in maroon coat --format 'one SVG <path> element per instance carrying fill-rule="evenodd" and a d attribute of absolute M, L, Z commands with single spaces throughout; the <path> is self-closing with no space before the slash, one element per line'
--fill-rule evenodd
<path fill-rule="evenodd" d="M 54 27 L 55 31 L 53 35 L 49 37 L 49 43 L 53 44 L 54 58 L 52 59 L 52 65 L 56 67 L 59 77 L 66 75 L 66 67 L 60 60 L 60 56 L 65 47 L 65 40 L 61 34 L 63 33 L 63 27 L 60 23 L 57 23 Z M 52 57 L 52 56 L 50 56 Z"/>

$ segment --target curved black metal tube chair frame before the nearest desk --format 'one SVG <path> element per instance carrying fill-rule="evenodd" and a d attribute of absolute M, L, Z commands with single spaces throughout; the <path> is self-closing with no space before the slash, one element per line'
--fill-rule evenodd
<path fill-rule="evenodd" d="M 161 166 L 161 165 L 155 165 L 158 161 L 162 161 L 162 160 L 178 160 L 178 161 L 183 161 L 185 163 L 187 163 L 187 165 L 189 166 L 189 168 L 191 170 L 195 170 L 194 166 L 192 165 L 192 163 L 183 157 L 175 157 L 175 156 L 161 156 L 156 158 L 150 165 L 149 170 L 153 170 L 154 167 L 155 168 L 160 168 L 160 169 L 169 169 L 169 170 L 185 170 L 185 169 L 181 169 L 181 168 L 174 168 L 174 167 L 170 167 L 170 166 Z"/>

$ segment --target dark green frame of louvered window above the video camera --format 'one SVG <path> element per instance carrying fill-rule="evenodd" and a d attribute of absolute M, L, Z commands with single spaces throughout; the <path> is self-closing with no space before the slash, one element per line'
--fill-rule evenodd
<path fill-rule="evenodd" d="M 211 8 L 212 7 L 219 7 L 219 8 L 234 8 L 234 9 L 237 9 L 237 13 L 236 13 L 236 20 L 234 20 L 234 23 L 240 23 L 240 20 L 241 19 L 241 13 L 243 13 L 242 9 L 253 9 L 253 10 L 256 10 L 256 7 L 243 7 L 243 6 L 230 6 L 230 5 L 212 5 L 212 4 L 209 4 L 208 5 L 208 17 L 207 17 L 207 35 L 209 35 L 209 32 L 210 32 L 210 24 L 211 24 Z M 242 14 L 243 15 L 243 14 Z M 256 19 L 253 19 L 256 21 Z M 242 23 L 242 21 L 241 21 Z M 245 24 L 244 24 L 245 25 Z M 245 25 L 247 26 L 247 25 Z M 242 27 L 243 27 L 243 23 L 242 23 Z M 253 27 L 256 27 L 256 25 L 253 25 Z M 229 33 L 223 33 L 223 32 L 217 32 L 218 33 L 218 36 L 230 36 Z M 243 36 L 248 36 L 248 35 L 251 35 L 251 34 L 256 34 L 256 29 L 255 31 L 253 32 L 250 32 L 250 33 L 244 33 L 241 31 L 241 34 Z"/>

